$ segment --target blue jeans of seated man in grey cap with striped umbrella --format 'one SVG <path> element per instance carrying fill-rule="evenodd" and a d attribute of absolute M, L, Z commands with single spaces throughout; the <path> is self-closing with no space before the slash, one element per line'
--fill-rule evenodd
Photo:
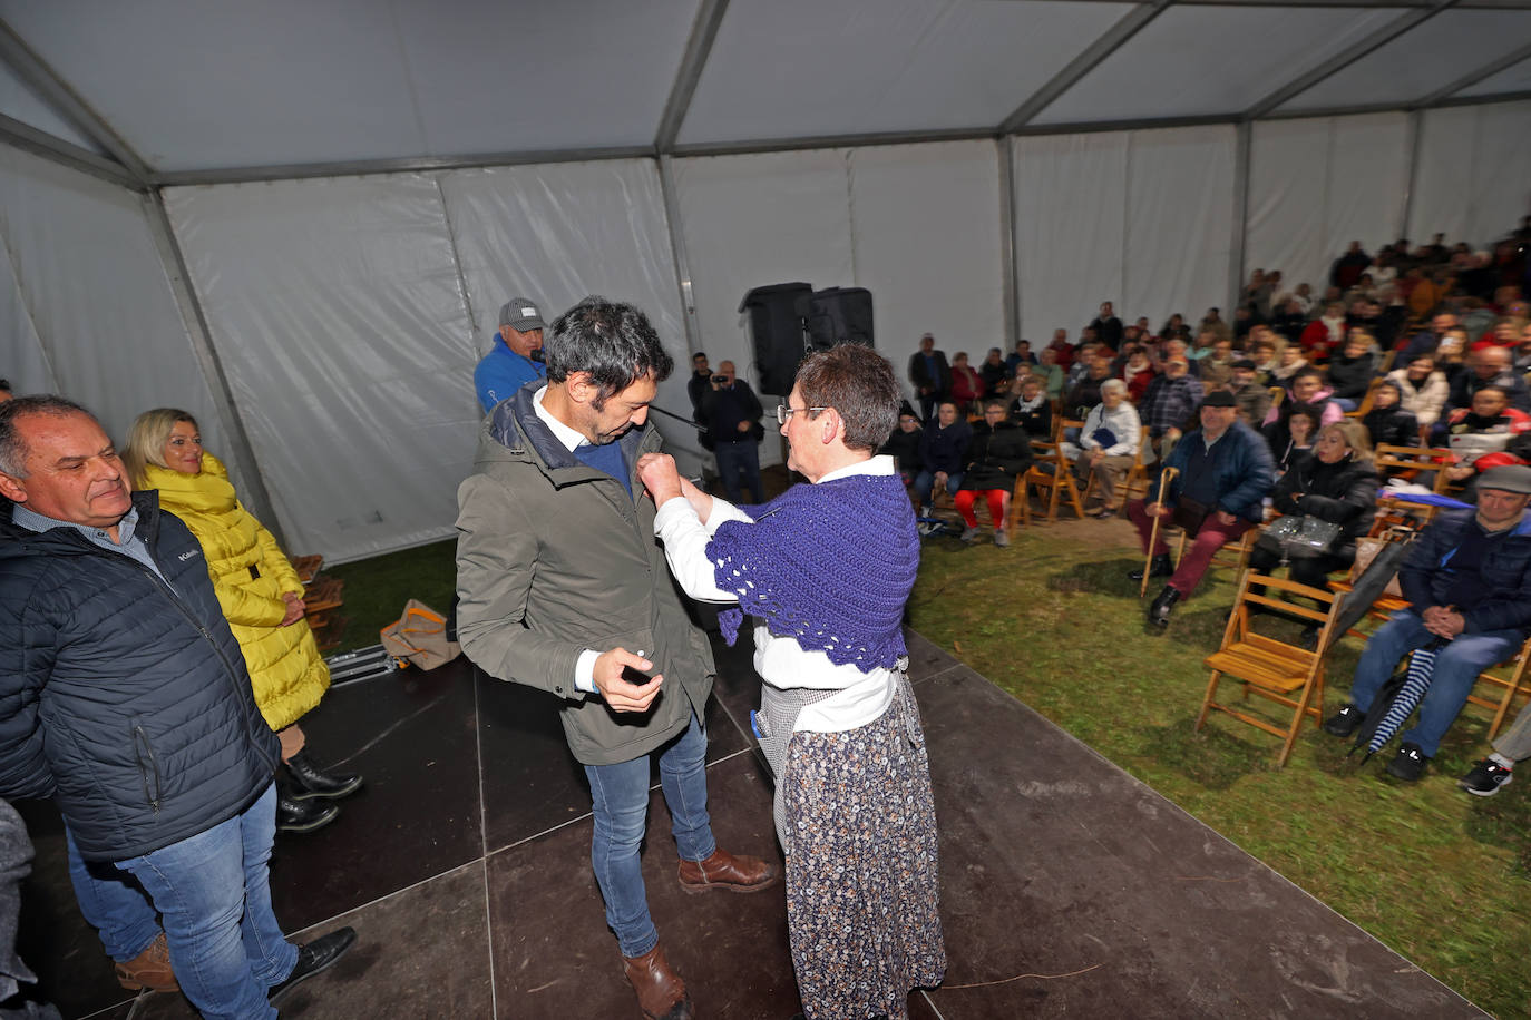
<path fill-rule="evenodd" d="M 1350 687 L 1350 700 L 1361 711 L 1372 708 L 1376 693 L 1393 674 L 1393 667 L 1407 653 L 1435 641 L 1435 635 L 1425 630 L 1424 621 L 1407 609 L 1393 613 L 1392 619 L 1382 624 L 1372 639 L 1366 642 L 1366 651 L 1355 667 L 1355 682 Z M 1458 713 L 1467 703 L 1467 696 L 1473 693 L 1477 674 L 1503 662 L 1516 653 L 1525 635 L 1519 630 L 1490 630 L 1477 635 L 1458 635 L 1436 653 L 1435 673 L 1430 677 L 1430 688 L 1419 707 L 1419 725 L 1404 734 L 1405 743 L 1418 743 L 1419 752 L 1427 759 L 1435 757 L 1441 746 L 1441 737 L 1456 722 Z"/>

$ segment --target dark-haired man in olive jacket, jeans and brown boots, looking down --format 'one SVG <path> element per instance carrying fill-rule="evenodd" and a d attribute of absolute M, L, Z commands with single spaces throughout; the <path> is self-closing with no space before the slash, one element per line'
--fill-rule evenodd
<path fill-rule="evenodd" d="M 484 422 L 458 489 L 458 638 L 484 671 L 563 699 L 589 778 L 591 862 L 643 1014 L 690 1015 L 649 918 L 640 872 L 649 755 L 689 892 L 756 892 L 781 870 L 717 847 L 701 729 L 712 651 L 654 540 L 637 462 L 660 448 L 649 402 L 672 361 L 629 304 L 585 298 L 553 324 L 547 382 Z"/>

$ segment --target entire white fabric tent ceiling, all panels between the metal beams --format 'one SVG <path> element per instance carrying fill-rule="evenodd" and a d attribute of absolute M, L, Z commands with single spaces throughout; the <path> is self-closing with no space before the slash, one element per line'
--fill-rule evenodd
<path fill-rule="evenodd" d="M 0 20 L 158 180 L 635 154 L 654 147 L 672 95 L 686 153 L 994 135 L 1113 31 L 1121 44 L 1069 75 L 1029 132 L 1236 121 L 1352 55 L 1356 40 L 1431 6 L 1182 0 L 1144 17 L 1148 5 L 1113 0 L 0 0 Z M 720 9 L 686 102 L 687 44 L 698 15 Z M 1127 18 L 1141 28 L 1124 32 Z M 1450 101 L 1438 92 L 1514 58 L 1526 40 L 1531 0 L 1462 0 L 1278 113 Z M 1454 98 L 1526 90 L 1531 60 L 1520 60 L 1461 84 Z M 49 109 L 47 89 L 38 95 L 11 70 L 0 70 L 0 113 L 100 151 Z"/>

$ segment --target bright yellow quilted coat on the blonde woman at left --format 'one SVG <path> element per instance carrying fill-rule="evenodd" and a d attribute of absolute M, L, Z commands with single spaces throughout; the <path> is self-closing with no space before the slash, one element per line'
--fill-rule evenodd
<path fill-rule="evenodd" d="M 210 453 L 201 474 L 147 465 L 144 488 L 159 489 L 159 505 L 185 521 L 207 557 L 213 590 L 245 653 L 256 705 L 271 729 L 285 729 L 318 703 L 329 688 L 308 621 L 279 625 L 286 615 L 283 592 L 303 583 L 271 532 L 234 495 L 228 471 Z M 259 578 L 251 577 L 256 567 Z"/>

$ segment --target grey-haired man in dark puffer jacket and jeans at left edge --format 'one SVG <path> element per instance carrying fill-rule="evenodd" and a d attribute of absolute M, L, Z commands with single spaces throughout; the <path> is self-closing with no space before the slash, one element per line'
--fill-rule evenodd
<path fill-rule="evenodd" d="M 277 740 L 201 546 L 155 492 L 129 494 L 101 425 L 61 398 L 0 405 L 0 494 L 12 502 L 0 514 L 0 797 L 58 801 L 70 878 L 112 956 L 149 953 L 158 910 L 204 1015 L 276 1017 L 269 999 L 355 933 L 295 947 L 271 913 Z"/>

